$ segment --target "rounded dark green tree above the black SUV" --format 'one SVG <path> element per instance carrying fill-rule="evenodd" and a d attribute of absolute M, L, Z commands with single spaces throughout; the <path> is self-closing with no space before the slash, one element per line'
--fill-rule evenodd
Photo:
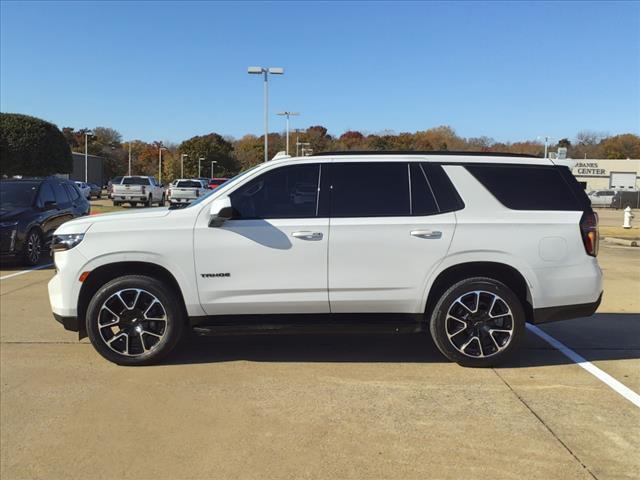
<path fill-rule="evenodd" d="M 51 175 L 73 169 L 67 139 L 53 123 L 0 113 L 0 175 Z"/>

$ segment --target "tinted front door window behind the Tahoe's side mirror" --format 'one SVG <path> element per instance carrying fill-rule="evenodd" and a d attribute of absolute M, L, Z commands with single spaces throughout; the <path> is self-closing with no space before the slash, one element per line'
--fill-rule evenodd
<path fill-rule="evenodd" d="M 234 191 L 234 218 L 308 218 L 316 216 L 320 167 L 293 165 L 271 170 Z"/>

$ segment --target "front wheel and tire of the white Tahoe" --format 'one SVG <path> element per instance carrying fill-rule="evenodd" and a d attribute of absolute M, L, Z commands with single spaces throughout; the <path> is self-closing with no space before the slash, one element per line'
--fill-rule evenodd
<path fill-rule="evenodd" d="M 87 335 L 97 352 L 118 365 L 151 365 L 182 337 L 185 314 L 163 282 L 127 275 L 103 285 L 87 309 Z"/>

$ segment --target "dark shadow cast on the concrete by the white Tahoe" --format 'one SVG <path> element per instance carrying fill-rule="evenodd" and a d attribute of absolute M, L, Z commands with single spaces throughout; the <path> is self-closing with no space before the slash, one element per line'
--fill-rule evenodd
<path fill-rule="evenodd" d="M 590 361 L 640 358 L 640 314 L 597 314 L 542 327 Z M 448 363 L 427 333 L 389 335 L 190 336 L 166 364 L 253 362 Z M 500 368 L 571 364 L 527 331 Z"/>

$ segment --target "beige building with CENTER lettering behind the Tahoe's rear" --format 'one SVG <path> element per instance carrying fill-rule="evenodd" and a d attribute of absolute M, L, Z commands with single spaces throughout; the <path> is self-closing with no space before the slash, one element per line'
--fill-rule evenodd
<path fill-rule="evenodd" d="M 573 159 L 571 171 L 586 191 L 637 190 L 640 160 Z"/>

